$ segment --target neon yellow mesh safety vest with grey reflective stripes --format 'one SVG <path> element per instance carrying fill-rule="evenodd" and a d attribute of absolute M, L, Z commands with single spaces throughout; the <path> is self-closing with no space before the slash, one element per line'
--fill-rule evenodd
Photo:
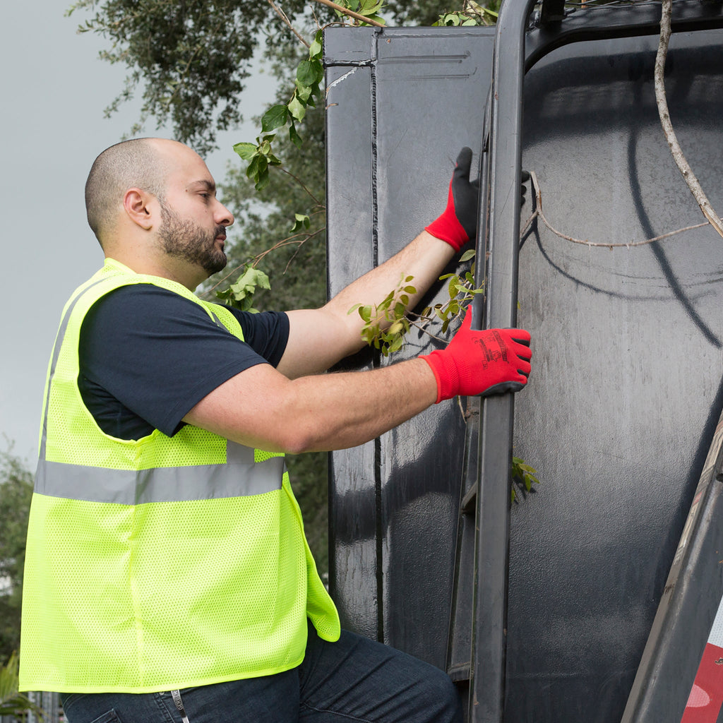
<path fill-rule="evenodd" d="M 283 455 L 190 425 L 120 440 L 87 411 L 82 320 L 137 283 L 191 299 L 243 338 L 228 309 L 114 260 L 71 297 L 43 405 L 20 690 L 150 693 L 270 675 L 304 658 L 307 616 L 325 640 L 339 637 Z"/>

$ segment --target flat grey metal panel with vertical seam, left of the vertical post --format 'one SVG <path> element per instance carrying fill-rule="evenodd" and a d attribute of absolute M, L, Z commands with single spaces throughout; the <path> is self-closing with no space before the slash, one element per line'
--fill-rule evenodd
<path fill-rule="evenodd" d="M 463 145 L 479 158 L 493 39 L 489 28 L 327 33 L 330 294 L 441 213 Z M 423 303 L 443 300 L 437 288 Z M 435 344 L 412 334 L 394 359 Z M 442 667 L 463 430 L 458 406 L 439 405 L 331 463 L 330 577 L 343 625 Z"/>

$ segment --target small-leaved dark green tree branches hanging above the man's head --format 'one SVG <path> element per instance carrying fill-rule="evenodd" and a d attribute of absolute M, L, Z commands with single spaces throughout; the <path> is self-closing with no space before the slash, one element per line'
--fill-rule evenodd
<path fill-rule="evenodd" d="M 286 0 L 290 20 L 304 0 Z M 286 27 L 270 5 L 258 0 L 77 0 L 68 14 L 90 13 L 80 32 L 106 38 L 100 57 L 127 66 L 121 92 L 106 108 L 114 112 L 142 87 L 140 125 L 170 121 L 179 140 L 200 153 L 215 147 L 218 130 L 241 120 L 239 95 L 251 74 L 260 40 L 271 43 Z"/>

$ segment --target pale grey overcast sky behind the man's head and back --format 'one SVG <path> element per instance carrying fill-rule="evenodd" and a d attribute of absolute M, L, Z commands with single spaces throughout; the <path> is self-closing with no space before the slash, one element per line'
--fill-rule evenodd
<path fill-rule="evenodd" d="M 72 0 L 5 3 L 0 23 L 3 141 L 0 210 L 4 276 L 0 331 L 0 450 L 35 468 L 38 425 L 48 356 L 69 294 L 102 264 L 87 227 L 85 177 L 95 156 L 121 140 L 137 120 L 137 106 L 121 106 L 112 119 L 103 108 L 120 90 L 125 73 L 98 59 L 103 40 L 77 35 L 85 17 L 64 17 Z M 273 100 L 261 75 L 241 99 L 256 115 Z M 155 124 L 145 134 L 156 132 Z M 207 158 L 216 181 L 226 163 L 239 159 L 232 145 L 253 140 L 250 122 L 221 137 Z"/>

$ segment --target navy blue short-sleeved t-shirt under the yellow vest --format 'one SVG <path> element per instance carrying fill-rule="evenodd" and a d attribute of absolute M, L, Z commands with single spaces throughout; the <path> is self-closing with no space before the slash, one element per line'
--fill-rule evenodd
<path fill-rule="evenodd" d="M 80 330 L 78 387 L 103 432 L 172 436 L 202 398 L 244 369 L 281 360 L 288 317 L 230 309 L 241 341 L 199 304 L 153 284 L 121 286 L 93 304 Z M 239 400 L 241 403 L 241 400 Z"/>

